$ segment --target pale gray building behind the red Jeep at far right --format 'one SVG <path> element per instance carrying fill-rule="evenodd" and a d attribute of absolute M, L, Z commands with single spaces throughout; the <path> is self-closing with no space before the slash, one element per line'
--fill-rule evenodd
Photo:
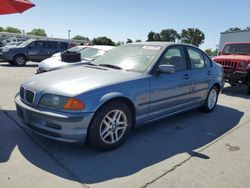
<path fill-rule="evenodd" d="M 219 52 L 226 42 L 250 42 L 250 30 L 222 32 L 220 34 Z"/>

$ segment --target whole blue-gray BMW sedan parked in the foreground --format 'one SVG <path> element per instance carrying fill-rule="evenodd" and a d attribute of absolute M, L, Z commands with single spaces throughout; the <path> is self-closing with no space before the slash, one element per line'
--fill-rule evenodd
<path fill-rule="evenodd" d="M 145 42 L 112 49 L 92 63 L 36 75 L 15 103 L 34 132 L 110 150 L 134 126 L 186 110 L 211 112 L 223 71 L 187 44 Z"/>

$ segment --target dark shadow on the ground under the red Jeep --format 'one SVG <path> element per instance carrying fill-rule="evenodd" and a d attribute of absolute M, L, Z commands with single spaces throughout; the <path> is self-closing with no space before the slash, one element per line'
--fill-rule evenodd
<path fill-rule="evenodd" d="M 250 95 L 247 95 L 247 85 L 227 86 L 224 87 L 222 93 L 228 96 L 250 99 Z"/>

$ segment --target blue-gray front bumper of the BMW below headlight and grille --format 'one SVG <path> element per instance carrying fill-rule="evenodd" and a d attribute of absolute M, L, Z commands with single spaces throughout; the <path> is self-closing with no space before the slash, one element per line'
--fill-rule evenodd
<path fill-rule="evenodd" d="M 33 132 L 69 143 L 84 143 L 94 113 L 55 113 L 39 110 L 15 98 L 17 113 Z"/>

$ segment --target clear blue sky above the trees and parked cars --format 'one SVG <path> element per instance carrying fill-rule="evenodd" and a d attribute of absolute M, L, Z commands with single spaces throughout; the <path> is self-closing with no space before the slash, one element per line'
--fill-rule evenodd
<path fill-rule="evenodd" d="M 31 0 L 36 7 L 23 14 L 0 15 L 0 26 L 31 31 L 43 28 L 48 36 L 77 34 L 113 41 L 146 40 L 150 31 L 195 27 L 205 33 L 202 49 L 215 48 L 220 32 L 250 26 L 249 0 Z"/>

